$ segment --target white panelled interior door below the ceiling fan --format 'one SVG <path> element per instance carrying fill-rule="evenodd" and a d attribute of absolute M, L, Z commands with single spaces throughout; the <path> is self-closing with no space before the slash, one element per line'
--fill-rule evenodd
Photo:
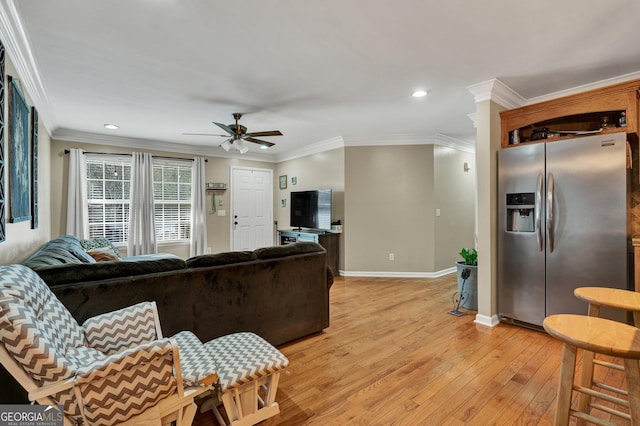
<path fill-rule="evenodd" d="M 273 171 L 231 168 L 231 245 L 254 250 L 273 245 Z"/>

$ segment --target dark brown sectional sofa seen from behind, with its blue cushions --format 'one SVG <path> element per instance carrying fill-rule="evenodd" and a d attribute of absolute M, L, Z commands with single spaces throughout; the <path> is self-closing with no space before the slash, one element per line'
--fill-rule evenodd
<path fill-rule="evenodd" d="M 69 236 L 52 240 L 24 264 L 33 267 L 79 323 L 151 300 L 158 305 L 167 336 L 191 330 L 208 341 L 252 331 L 279 345 L 329 326 L 333 272 L 319 244 L 300 242 L 186 261 L 173 255 L 109 262 L 43 261 L 52 251 L 60 257 L 60 246 L 78 252 L 74 240 Z M 82 258 L 83 253 L 74 257 Z"/>

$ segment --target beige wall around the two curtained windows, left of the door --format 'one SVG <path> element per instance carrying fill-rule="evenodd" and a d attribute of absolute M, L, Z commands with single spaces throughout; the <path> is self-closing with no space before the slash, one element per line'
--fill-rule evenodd
<path fill-rule="evenodd" d="M 82 144 L 76 142 L 53 140 L 51 143 L 51 235 L 56 237 L 66 233 L 66 217 L 67 217 L 67 179 L 69 168 L 69 156 L 64 154 L 65 149 L 82 148 L 86 151 L 108 152 L 108 153 L 131 153 L 134 150 L 127 148 L 119 148 L 113 146 L 104 146 L 96 144 Z M 140 149 L 136 149 L 140 151 Z M 148 150 L 154 155 L 162 155 L 168 157 L 192 158 L 192 155 L 181 155 L 170 152 L 161 152 Z M 246 161 L 220 157 L 206 157 L 207 164 L 205 167 L 205 178 L 207 182 L 226 183 L 229 188 L 231 166 L 255 167 L 262 169 L 275 169 L 272 163 Z M 275 174 L 275 173 L 274 173 Z M 207 194 L 208 205 L 211 205 L 211 197 L 213 193 Z M 211 248 L 212 253 L 229 251 L 231 249 L 231 206 L 229 205 L 230 194 L 229 189 L 224 192 L 216 193 L 216 202 L 222 202 L 217 205 L 218 210 L 226 210 L 226 216 L 218 216 L 214 214 L 209 207 L 207 213 L 207 246 Z M 126 255 L 126 248 L 122 249 Z M 173 253 L 183 258 L 189 257 L 189 245 L 160 245 L 158 251 L 165 253 Z"/>

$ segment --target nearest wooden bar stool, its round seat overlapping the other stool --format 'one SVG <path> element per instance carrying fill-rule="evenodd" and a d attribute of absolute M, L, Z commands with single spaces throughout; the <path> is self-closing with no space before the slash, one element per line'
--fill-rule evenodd
<path fill-rule="evenodd" d="M 630 420 L 632 425 L 640 426 L 640 368 L 638 364 L 638 360 L 640 360 L 640 330 L 617 321 L 572 314 L 551 315 L 545 318 L 542 325 L 547 333 L 563 342 L 554 424 L 556 426 L 568 425 L 570 416 L 574 416 L 577 420 L 586 420 L 599 425 L 611 424 L 587 412 L 572 410 L 571 397 L 575 390 L 580 394 L 587 394 L 629 407 L 629 414 L 612 409 L 607 412 Z M 624 370 L 629 386 L 628 401 L 581 385 L 574 385 L 578 348 L 624 359 Z"/>

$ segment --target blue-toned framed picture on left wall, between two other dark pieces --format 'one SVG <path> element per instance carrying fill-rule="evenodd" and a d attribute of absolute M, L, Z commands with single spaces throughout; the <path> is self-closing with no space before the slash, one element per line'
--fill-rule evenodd
<path fill-rule="evenodd" d="M 9 220 L 31 220 L 31 158 L 29 156 L 29 105 L 16 79 L 9 80 Z"/>

